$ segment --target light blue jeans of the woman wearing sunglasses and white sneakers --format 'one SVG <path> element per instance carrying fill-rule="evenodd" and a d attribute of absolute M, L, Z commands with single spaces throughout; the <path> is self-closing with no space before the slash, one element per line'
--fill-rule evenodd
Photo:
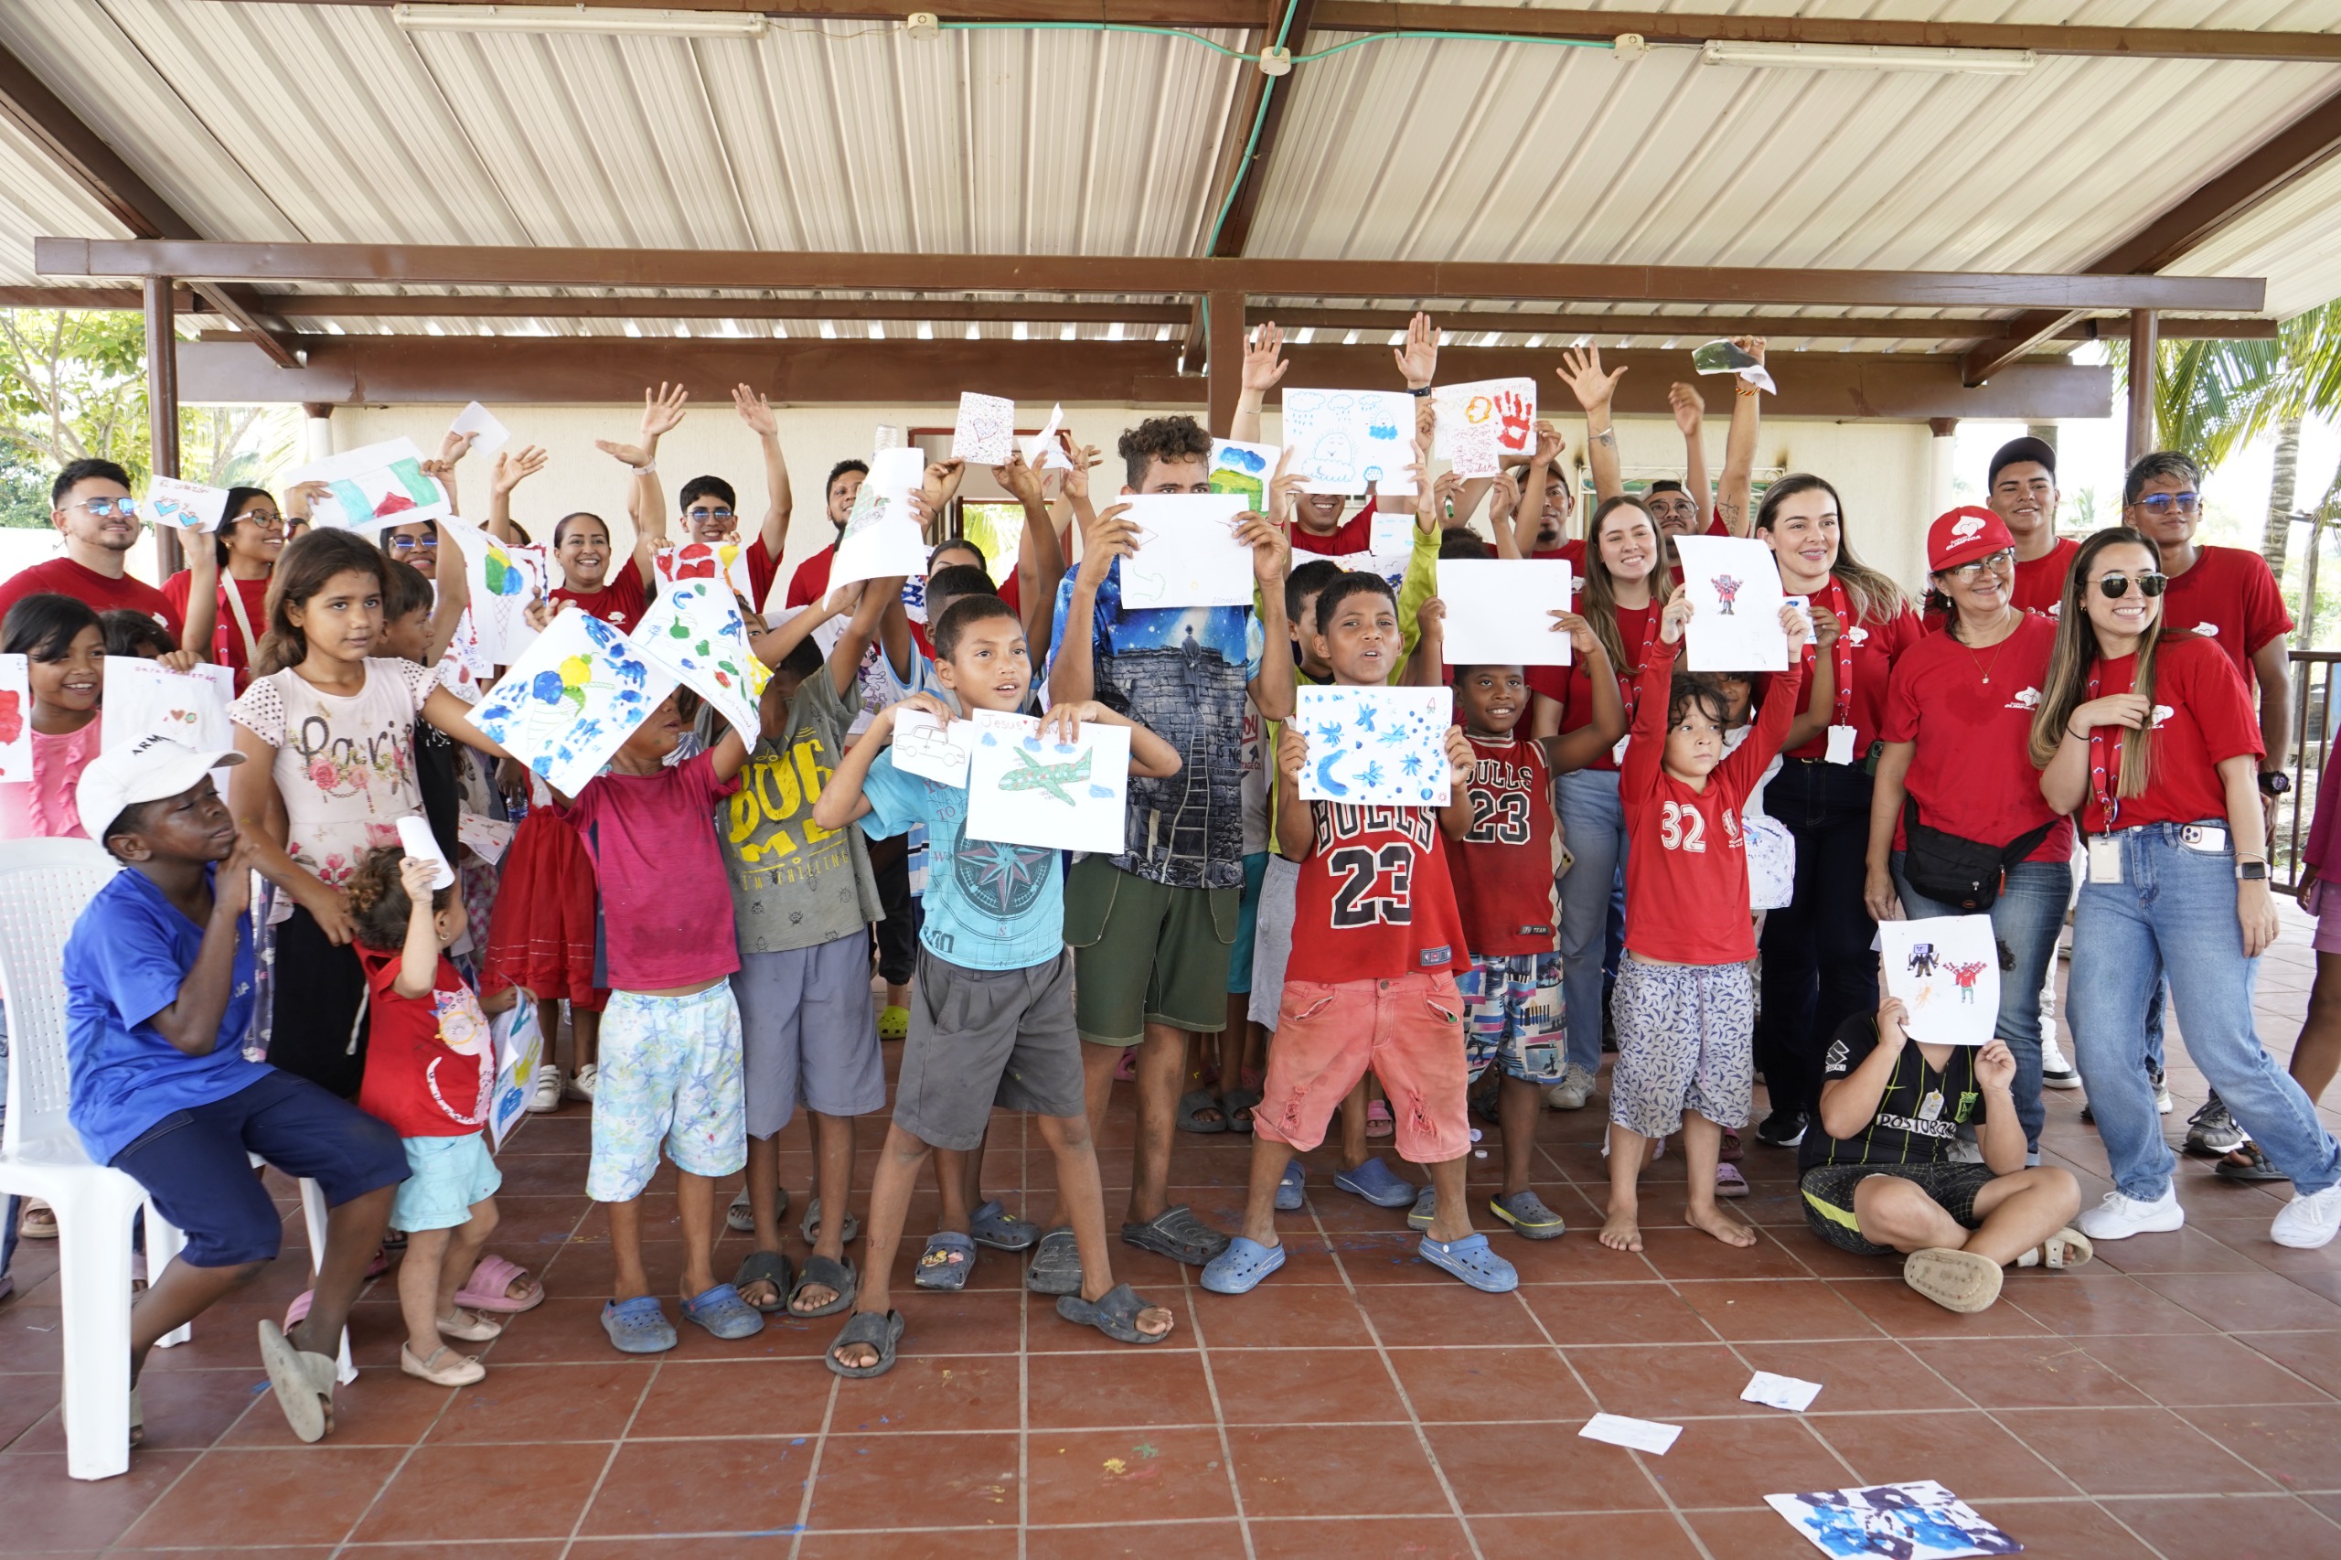
<path fill-rule="evenodd" d="M 2170 1190 L 2147 1082 L 2147 1005 L 2168 977 L 2186 1054 L 2301 1197 L 2341 1181 L 2341 1143 L 2252 1028 L 2259 960 L 2243 956 L 2233 850 L 2191 850 L 2179 825 L 2116 834 L 2121 883 L 2081 883 L 2067 1012 L 2081 1080 L 2123 1197 Z"/>

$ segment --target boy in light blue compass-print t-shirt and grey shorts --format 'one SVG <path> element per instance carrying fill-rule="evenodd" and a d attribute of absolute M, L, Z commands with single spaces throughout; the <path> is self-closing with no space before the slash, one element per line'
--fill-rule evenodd
<path fill-rule="evenodd" d="M 943 691 L 974 710 L 1023 710 L 1032 658 L 1016 611 L 997 595 L 969 595 L 934 623 L 934 675 Z M 920 928 L 911 993 L 911 1035 L 901 1052 L 894 1122 L 871 1181 L 869 1251 L 854 1316 L 824 1356 L 838 1375 L 885 1375 L 894 1368 L 901 1312 L 887 1305 L 894 1248 L 911 1188 L 927 1150 L 941 1176 L 960 1174 L 993 1106 L 1030 1110 L 1056 1155 L 1056 1183 L 1082 1251 L 1082 1291 L 1058 1295 L 1056 1312 L 1096 1326 L 1117 1342 L 1152 1345 L 1170 1335 L 1173 1316 L 1112 1279 L 1105 1246 L 1105 1195 L 1082 1096 L 1082 1038 L 1072 1024 L 1072 953 L 1065 951 L 1060 857 L 1042 846 L 1007 846 L 967 836 L 967 787 L 894 768 L 885 752 L 894 719 L 950 710 L 913 693 L 871 721 L 812 817 L 824 829 L 861 822 L 873 839 L 927 825 L 927 923 Z M 1131 728 L 1131 775 L 1178 773 L 1178 752 L 1159 735 L 1093 703 L 1049 712 L 1042 733 L 1072 740 L 1082 721 Z"/>

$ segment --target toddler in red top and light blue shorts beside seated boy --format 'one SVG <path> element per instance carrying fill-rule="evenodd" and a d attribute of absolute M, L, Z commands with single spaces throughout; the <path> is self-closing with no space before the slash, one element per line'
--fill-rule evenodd
<path fill-rule="evenodd" d="M 435 888 L 442 874 L 447 885 Z M 398 1368 L 433 1387 L 468 1387 L 487 1366 L 440 1337 L 487 1342 L 503 1333 L 501 1321 L 454 1300 L 496 1230 L 503 1176 L 480 1131 L 496 1047 L 480 998 L 447 958 L 464 935 L 464 899 L 445 862 L 386 846 L 358 862 L 349 916 L 372 995 L 358 1108 L 398 1129 L 410 1171 L 391 1204 L 391 1227 L 407 1232 L 398 1265 L 407 1342 Z"/>

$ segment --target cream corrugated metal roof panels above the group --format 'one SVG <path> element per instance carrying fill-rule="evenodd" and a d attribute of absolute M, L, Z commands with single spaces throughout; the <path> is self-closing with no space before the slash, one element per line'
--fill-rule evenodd
<path fill-rule="evenodd" d="M 1877 7 L 1791 0 L 1763 9 Z M 2341 28 L 2327 0 L 1908 0 L 1892 9 Z M 1248 70 L 1180 37 L 1131 33 L 913 40 L 883 21 L 775 21 L 761 40 L 407 33 L 379 7 L 225 0 L 0 5 L 0 40 L 204 234 L 309 241 L 1199 253 L 1215 218 L 1208 183 L 1227 103 Z M 1318 33 L 1304 47 L 1334 42 L 1341 35 Z M 2074 269 L 2336 87 L 2341 68 L 2287 63 L 2046 59 L 2023 77 L 1870 75 L 1704 66 L 1690 49 L 1622 59 L 1388 40 L 1306 63 L 1278 84 L 1292 98 L 1248 248 Z M 42 232 L 119 230 L 0 129 L 0 281 L 40 281 L 30 239 Z M 2271 305 L 2289 312 L 2341 293 L 2336 239 L 2341 169 L 2329 169 L 2175 269 L 2266 274 Z M 1702 335 L 1697 312 L 1683 316 L 1686 335 Z M 754 319 L 353 312 L 342 323 L 464 335 L 822 333 L 819 323 Z M 920 335 L 915 321 L 829 330 Z M 1037 323 L 1028 333 L 1063 330 Z M 1110 328 L 1072 333 L 1091 340 Z M 1156 330 L 1121 330 L 1138 333 Z M 1796 342 L 1786 330 L 1774 340 L 1847 351 L 1894 344 Z"/>

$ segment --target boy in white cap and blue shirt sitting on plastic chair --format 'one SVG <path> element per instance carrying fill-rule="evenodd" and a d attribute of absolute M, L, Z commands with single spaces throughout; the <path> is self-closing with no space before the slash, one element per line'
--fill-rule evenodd
<path fill-rule="evenodd" d="M 215 766 L 241 761 L 157 735 L 96 759 L 77 792 L 122 871 L 66 942 L 68 1117 L 91 1159 L 131 1176 L 187 1232 L 131 1307 L 133 1445 L 147 1349 L 258 1279 L 283 1239 L 248 1155 L 316 1181 L 332 1209 L 307 1319 L 290 1335 L 260 1323 L 260 1359 L 302 1441 L 332 1429 L 342 1323 L 407 1178 L 396 1131 L 243 1056 L 253 862 L 211 785 Z"/>

